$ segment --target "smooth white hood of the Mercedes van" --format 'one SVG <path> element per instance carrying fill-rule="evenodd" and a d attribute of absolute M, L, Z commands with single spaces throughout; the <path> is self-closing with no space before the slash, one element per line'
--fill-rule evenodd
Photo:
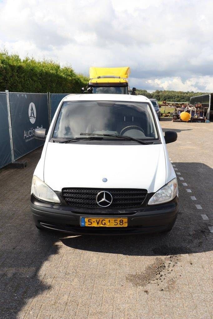
<path fill-rule="evenodd" d="M 106 178 L 107 182 L 102 179 Z M 166 183 L 163 144 L 85 145 L 49 142 L 44 182 L 64 187 L 139 188 L 156 192 Z"/>

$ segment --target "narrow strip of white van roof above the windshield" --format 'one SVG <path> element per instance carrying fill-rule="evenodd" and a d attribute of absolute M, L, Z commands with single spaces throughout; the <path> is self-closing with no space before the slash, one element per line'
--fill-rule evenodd
<path fill-rule="evenodd" d="M 131 101 L 131 102 L 149 102 L 149 99 L 143 95 L 130 94 L 69 94 L 65 96 L 64 101 Z"/>

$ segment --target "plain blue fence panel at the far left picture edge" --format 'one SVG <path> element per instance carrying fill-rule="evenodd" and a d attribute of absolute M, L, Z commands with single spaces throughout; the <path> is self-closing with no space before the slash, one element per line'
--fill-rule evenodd
<path fill-rule="evenodd" d="M 7 96 L 0 92 L 0 168 L 11 163 L 11 144 L 7 110 Z"/>

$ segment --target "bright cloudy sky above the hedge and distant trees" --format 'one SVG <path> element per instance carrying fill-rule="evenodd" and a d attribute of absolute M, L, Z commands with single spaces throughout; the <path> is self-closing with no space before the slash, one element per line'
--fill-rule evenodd
<path fill-rule="evenodd" d="M 0 49 L 85 75 L 130 66 L 130 86 L 213 92 L 212 0 L 0 0 Z"/>

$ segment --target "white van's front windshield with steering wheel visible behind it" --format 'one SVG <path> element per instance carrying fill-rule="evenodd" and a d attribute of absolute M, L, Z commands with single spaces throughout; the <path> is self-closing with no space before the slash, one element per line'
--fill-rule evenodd
<path fill-rule="evenodd" d="M 126 135 L 158 139 L 148 103 L 123 101 L 65 101 L 54 127 L 53 138 L 82 137 L 81 133 Z"/>

